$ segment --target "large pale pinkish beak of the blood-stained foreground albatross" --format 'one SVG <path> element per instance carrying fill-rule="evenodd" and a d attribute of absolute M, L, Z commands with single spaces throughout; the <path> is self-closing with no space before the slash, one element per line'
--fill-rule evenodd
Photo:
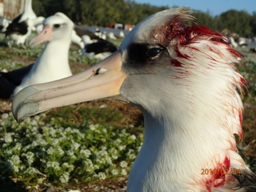
<path fill-rule="evenodd" d="M 47 109 L 119 95 L 120 87 L 127 77 L 121 67 L 122 56 L 120 51 L 116 51 L 74 76 L 28 86 L 13 99 L 13 116 L 19 122 L 24 116 Z"/>

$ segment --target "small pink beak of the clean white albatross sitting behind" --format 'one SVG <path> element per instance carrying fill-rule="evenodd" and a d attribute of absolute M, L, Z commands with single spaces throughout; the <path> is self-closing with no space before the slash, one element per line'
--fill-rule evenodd
<path fill-rule="evenodd" d="M 52 28 L 48 24 L 44 26 L 44 29 L 29 42 L 30 47 L 42 44 L 43 42 L 49 40 L 52 37 Z"/>

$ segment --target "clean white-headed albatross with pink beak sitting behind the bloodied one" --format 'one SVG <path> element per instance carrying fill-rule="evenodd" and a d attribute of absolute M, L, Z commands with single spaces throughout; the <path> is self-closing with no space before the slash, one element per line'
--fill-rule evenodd
<path fill-rule="evenodd" d="M 44 50 L 34 64 L 7 73 L 0 72 L 0 98 L 8 99 L 31 84 L 72 76 L 68 64 L 71 33 L 72 25 L 67 19 L 59 15 L 45 19 L 44 29 L 31 40 L 32 47 L 47 41 Z"/>

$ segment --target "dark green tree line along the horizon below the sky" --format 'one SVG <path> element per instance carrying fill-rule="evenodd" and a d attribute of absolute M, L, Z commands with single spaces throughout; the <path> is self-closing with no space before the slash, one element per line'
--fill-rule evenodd
<path fill-rule="evenodd" d="M 131 0 L 34 0 L 36 15 L 49 17 L 56 12 L 67 14 L 77 24 L 106 27 L 109 23 L 138 24 L 153 13 L 168 9 L 168 6 L 152 6 Z M 228 10 L 212 16 L 209 12 L 193 10 L 196 23 L 221 31 L 225 28 L 240 36 L 256 35 L 256 10 L 253 15 L 244 11 Z M 193 25 L 190 23 L 189 25 Z"/>

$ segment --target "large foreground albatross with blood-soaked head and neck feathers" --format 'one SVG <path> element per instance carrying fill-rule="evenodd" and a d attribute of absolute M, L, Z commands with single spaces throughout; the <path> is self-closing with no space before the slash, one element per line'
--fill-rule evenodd
<path fill-rule="evenodd" d="M 237 153 L 246 81 L 227 38 L 186 8 L 151 15 L 118 51 L 71 77 L 35 84 L 12 103 L 17 121 L 47 109 L 115 99 L 138 106 L 145 137 L 127 191 L 256 191 L 256 176 Z M 212 170 L 207 173 L 205 170 Z"/>

